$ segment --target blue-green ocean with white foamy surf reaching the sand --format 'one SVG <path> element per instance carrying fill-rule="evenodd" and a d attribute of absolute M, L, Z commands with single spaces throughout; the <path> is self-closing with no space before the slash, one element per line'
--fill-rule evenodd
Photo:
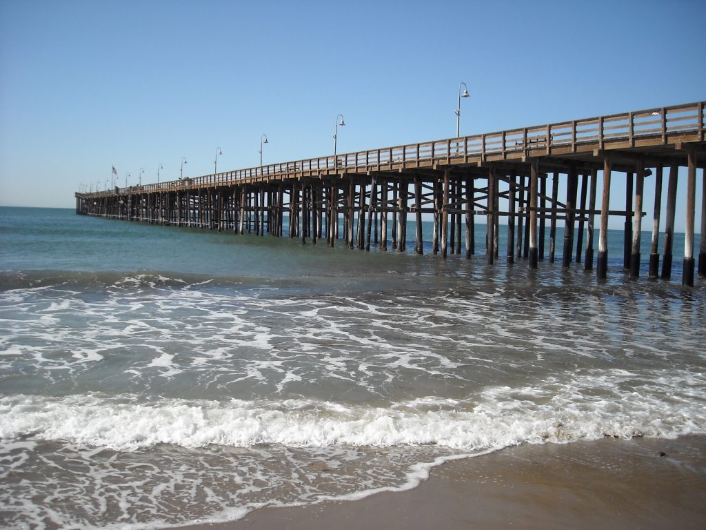
<path fill-rule="evenodd" d="M 484 230 L 443 260 L 0 208 L 0 526 L 227 521 L 519 444 L 706 434 L 683 235 L 671 281 L 630 280 L 611 231 L 599 283 L 561 230 L 536 271 L 504 227 L 486 264 Z"/>

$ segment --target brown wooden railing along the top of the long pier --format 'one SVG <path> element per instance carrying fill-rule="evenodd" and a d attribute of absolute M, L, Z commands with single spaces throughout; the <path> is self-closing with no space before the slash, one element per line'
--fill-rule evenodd
<path fill-rule="evenodd" d="M 703 141 L 705 102 L 612 114 L 494 133 L 460 136 L 357 153 L 344 153 L 249 167 L 201 177 L 119 189 L 160 192 L 277 179 L 400 170 L 458 163 L 517 160 L 594 150 L 657 146 L 675 141 Z M 114 190 L 98 195 L 111 195 Z"/>

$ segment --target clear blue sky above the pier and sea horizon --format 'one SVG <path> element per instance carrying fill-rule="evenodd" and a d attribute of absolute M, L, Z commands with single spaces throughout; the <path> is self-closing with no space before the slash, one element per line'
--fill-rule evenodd
<path fill-rule="evenodd" d="M 112 167 L 121 186 L 182 158 L 205 175 L 217 148 L 219 171 L 253 167 L 261 134 L 265 164 L 329 155 L 337 114 L 338 153 L 445 139 L 461 82 L 461 134 L 703 100 L 705 17 L 702 0 L 0 0 L 0 205 L 73 207 Z"/>

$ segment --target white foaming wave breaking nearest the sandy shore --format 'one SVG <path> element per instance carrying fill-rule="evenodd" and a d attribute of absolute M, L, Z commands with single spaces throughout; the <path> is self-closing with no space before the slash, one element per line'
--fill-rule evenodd
<path fill-rule="evenodd" d="M 97 394 L 0 398 L 0 437 L 134 450 L 157 444 L 288 447 L 436 445 L 460 451 L 600 437 L 706 433 L 704 374 L 632 386 L 628 372 L 539 388 L 492 387 L 466 400 L 388 406 L 315 399 L 199 401 Z"/>

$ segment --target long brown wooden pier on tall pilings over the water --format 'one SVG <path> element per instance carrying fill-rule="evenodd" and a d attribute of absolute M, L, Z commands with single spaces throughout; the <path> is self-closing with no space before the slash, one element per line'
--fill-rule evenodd
<path fill-rule="evenodd" d="M 671 277 L 676 192 L 686 185 L 684 285 L 693 285 L 695 206 L 701 201 L 698 275 L 706 277 L 706 186 L 697 197 L 696 173 L 706 165 L 704 105 L 661 107 L 490 134 L 308 158 L 158 184 L 76 193 L 76 213 L 164 225 L 285 235 L 333 247 L 369 250 L 371 233 L 381 250 L 404 252 L 407 220 L 416 226 L 414 252 L 423 252 L 422 213 L 433 216 L 434 254 L 474 253 L 474 216 L 486 216 L 486 257 L 501 254 L 498 225 L 508 223 L 509 262 L 531 268 L 548 254 L 554 261 L 556 223 L 565 223 L 562 265 L 596 265 L 606 278 L 609 216 L 624 219 L 623 266 L 640 275 L 640 235 L 647 175 L 655 175 L 651 278 Z M 679 167 L 687 167 L 678 182 Z M 618 175 L 616 175 L 618 174 Z M 621 176 L 624 175 L 623 176 Z M 602 178 L 602 196 L 597 181 Z M 662 182 L 666 226 L 659 271 Z M 566 194 L 558 196 L 560 179 Z M 626 205 L 609 210 L 611 186 L 624 179 Z M 618 183 L 622 185 L 622 183 Z M 500 209 L 500 199 L 507 203 Z M 597 205 L 597 201 L 600 204 Z M 594 237 L 595 217 L 599 235 Z M 341 222 L 342 221 L 342 222 Z M 342 228 L 342 230 L 341 230 Z M 549 249 L 544 248 L 549 230 Z M 379 233 L 379 237 L 378 237 Z M 390 241 L 388 242 L 388 235 Z M 585 242 L 584 242 L 585 236 Z M 594 260 L 594 243 L 598 253 Z M 574 243 L 576 242 L 575 248 Z"/>

